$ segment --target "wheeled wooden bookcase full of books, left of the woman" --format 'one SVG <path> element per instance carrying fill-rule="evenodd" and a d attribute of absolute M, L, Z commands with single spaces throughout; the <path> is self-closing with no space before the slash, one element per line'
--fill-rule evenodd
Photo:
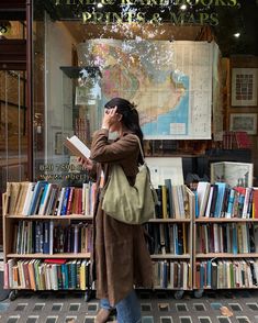
<path fill-rule="evenodd" d="M 65 188 L 72 193 L 70 199 L 66 199 L 68 193 L 63 194 L 67 208 L 58 211 L 64 189 L 58 187 L 59 193 L 55 194 L 57 186 L 44 182 L 40 190 L 42 183 L 33 183 L 27 210 L 32 183 L 8 183 L 3 194 L 4 288 L 11 290 L 11 300 L 24 289 L 81 290 L 88 299 L 93 219 L 86 212 L 89 191 Z M 53 207 L 48 208 L 49 203 Z"/>

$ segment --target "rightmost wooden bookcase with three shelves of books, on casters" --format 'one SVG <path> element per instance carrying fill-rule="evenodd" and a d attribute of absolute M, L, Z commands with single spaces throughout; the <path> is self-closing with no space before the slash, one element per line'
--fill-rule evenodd
<path fill-rule="evenodd" d="M 193 223 L 193 289 L 198 298 L 206 289 L 258 288 L 258 190 L 215 185 L 220 187 L 215 210 L 211 208 Z M 199 205 L 203 202 L 204 209 L 210 208 L 215 185 L 206 183 L 207 193 Z"/>

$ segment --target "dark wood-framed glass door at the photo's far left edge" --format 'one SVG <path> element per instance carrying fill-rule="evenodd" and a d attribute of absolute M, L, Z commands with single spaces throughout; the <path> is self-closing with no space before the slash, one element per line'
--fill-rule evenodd
<path fill-rule="evenodd" d="M 26 73 L 0 70 L 0 193 L 27 178 Z M 0 200 L 2 214 L 2 200 Z M 0 245 L 2 221 L 0 222 Z"/>

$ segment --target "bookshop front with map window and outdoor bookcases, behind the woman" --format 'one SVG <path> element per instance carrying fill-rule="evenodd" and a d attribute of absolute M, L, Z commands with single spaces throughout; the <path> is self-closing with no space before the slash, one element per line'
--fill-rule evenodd
<path fill-rule="evenodd" d="M 25 1 L 13 1 L 23 2 L 25 10 Z M 103 107 L 114 97 L 137 107 L 152 181 L 159 193 L 156 219 L 148 223 L 148 248 L 156 259 L 155 272 L 166 272 L 170 281 L 156 275 L 156 287 L 175 289 L 178 298 L 183 290 L 228 288 L 229 279 L 212 285 L 209 269 L 214 260 L 221 266 L 216 277 L 233 272 L 227 256 L 236 258 L 231 260 L 236 266 L 245 259 L 245 270 L 237 271 L 244 280 L 240 287 L 257 287 L 257 280 L 246 285 L 243 278 L 243 272 L 248 279 L 254 275 L 249 258 L 258 258 L 258 191 L 253 189 L 258 186 L 257 1 L 26 3 L 23 21 L 11 15 L 0 21 L 0 46 L 23 48 L 15 64 L 8 58 L 10 47 L 5 62 L 0 52 L 0 233 L 5 272 L 12 272 L 5 275 L 11 279 L 4 287 L 90 287 L 96 183 L 64 142 L 76 135 L 90 147 Z M 0 4 L 0 14 L 1 9 Z M 213 162 L 224 162 L 227 169 L 227 162 L 239 163 L 229 165 L 226 178 L 224 168 L 215 169 Z M 46 275 L 45 282 L 18 279 L 18 263 L 29 266 L 27 258 L 35 268 L 46 268 L 46 255 L 49 263 L 59 258 L 56 265 L 83 267 L 80 277 L 72 274 L 79 280 L 67 274 L 58 285 L 57 271 L 53 282 L 47 270 L 41 275 Z M 210 275 L 205 286 L 204 275 Z M 231 287 L 239 285 L 235 280 Z"/>

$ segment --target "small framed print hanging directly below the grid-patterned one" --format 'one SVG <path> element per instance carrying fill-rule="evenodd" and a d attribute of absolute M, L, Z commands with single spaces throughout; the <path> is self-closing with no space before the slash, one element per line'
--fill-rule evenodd
<path fill-rule="evenodd" d="M 229 129 L 257 134 L 257 113 L 232 113 Z"/>

